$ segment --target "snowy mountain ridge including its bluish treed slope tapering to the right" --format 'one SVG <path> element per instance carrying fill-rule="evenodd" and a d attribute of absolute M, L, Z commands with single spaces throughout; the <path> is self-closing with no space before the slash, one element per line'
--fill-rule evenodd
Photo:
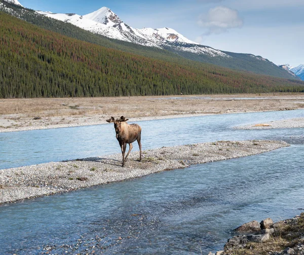
<path fill-rule="evenodd" d="M 107 15 L 109 13 L 109 15 Z M 142 29 L 136 29 L 132 28 L 131 26 L 124 23 L 114 12 L 112 12 L 107 7 L 102 7 L 99 10 L 92 12 L 90 14 L 86 14 L 83 16 L 65 16 L 62 17 L 62 14 L 50 14 L 46 12 L 40 12 L 40 14 L 46 15 L 48 17 L 57 18 L 65 22 L 70 22 L 76 26 L 79 26 L 85 30 L 92 31 L 94 33 L 99 33 L 104 35 L 105 37 L 109 37 L 112 39 L 118 39 L 126 42 L 131 42 L 143 46 L 148 47 L 157 47 L 160 49 L 166 49 L 168 51 L 171 51 L 173 53 L 177 53 L 180 56 L 186 57 L 188 59 L 192 59 L 195 61 L 200 62 L 209 62 L 216 65 L 221 65 L 228 68 L 234 68 L 234 69 L 242 69 L 242 70 L 249 70 L 251 71 L 252 68 L 246 69 L 246 66 L 251 66 L 250 62 L 253 61 L 252 58 L 255 58 L 258 60 L 261 66 L 265 66 L 265 63 L 267 62 L 268 65 L 271 65 L 272 69 L 278 68 L 276 64 L 269 61 L 268 59 L 265 59 L 261 56 L 255 56 L 253 54 L 244 54 L 243 53 L 229 53 L 225 51 L 220 51 L 213 49 L 209 46 L 203 46 L 196 42 L 193 42 L 191 40 L 188 40 L 185 38 L 182 34 L 178 33 L 176 30 L 172 28 L 142 28 Z M 78 18 L 79 17 L 79 18 Z M 111 20 L 111 18 L 115 18 L 115 22 L 107 22 L 105 25 L 106 20 Z M 93 25 L 91 23 L 90 25 L 85 25 L 85 23 L 88 23 L 87 20 L 84 20 L 85 18 L 88 18 L 87 20 L 90 20 L 90 22 L 96 22 L 97 24 Z M 94 21 L 95 20 L 95 21 Z M 239 54 L 238 56 L 236 54 Z M 245 67 L 244 63 L 240 64 L 237 63 L 237 60 L 234 60 L 233 58 L 241 56 L 243 61 L 246 61 Z M 245 57 L 247 59 L 245 60 Z M 218 60 L 220 59 L 220 60 Z M 256 61 L 255 60 L 255 61 Z M 229 62 L 229 63 L 228 63 Z M 265 62 L 265 63 L 263 63 Z M 258 63 L 255 63 L 257 66 Z M 278 68 L 280 69 L 280 68 Z M 254 71 L 254 70 L 253 70 Z M 274 76 L 283 77 L 283 78 L 289 78 L 289 79 L 295 79 L 296 77 L 293 76 L 291 73 L 287 71 L 287 74 L 284 74 L 284 72 L 281 72 L 280 70 L 273 70 Z M 257 74 L 267 74 L 266 71 L 263 71 L 261 68 L 259 70 L 255 71 Z M 281 74 L 280 74 L 281 72 Z"/>

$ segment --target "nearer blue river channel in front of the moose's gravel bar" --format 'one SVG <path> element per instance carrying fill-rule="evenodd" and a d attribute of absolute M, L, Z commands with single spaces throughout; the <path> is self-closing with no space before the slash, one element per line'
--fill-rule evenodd
<path fill-rule="evenodd" d="M 1 254 L 207 254 L 245 222 L 303 211 L 303 157 L 292 145 L 2 205 Z"/>

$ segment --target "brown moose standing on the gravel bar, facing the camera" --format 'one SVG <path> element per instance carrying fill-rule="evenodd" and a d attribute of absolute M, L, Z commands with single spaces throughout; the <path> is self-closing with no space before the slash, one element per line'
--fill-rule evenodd
<path fill-rule="evenodd" d="M 120 117 L 120 119 L 114 119 L 111 117 L 110 119 L 106 120 L 106 122 L 113 122 L 114 128 L 116 132 L 116 139 L 119 142 L 119 145 L 122 149 L 123 154 L 123 165 L 125 165 L 125 162 L 127 161 L 127 158 L 133 148 L 132 142 L 137 140 L 138 146 L 139 146 L 139 161 L 141 161 L 141 127 L 137 124 L 128 124 L 126 121 L 129 119 L 126 119 L 124 116 Z M 129 143 L 129 152 L 127 156 L 125 157 L 127 143 Z"/>

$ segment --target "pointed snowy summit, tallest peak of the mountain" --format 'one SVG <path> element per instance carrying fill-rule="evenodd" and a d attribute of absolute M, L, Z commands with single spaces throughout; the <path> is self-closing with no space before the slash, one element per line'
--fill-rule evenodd
<path fill-rule="evenodd" d="M 123 21 L 107 7 L 102 7 L 95 12 L 83 15 L 83 17 L 107 26 L 123 23 Z"/>

